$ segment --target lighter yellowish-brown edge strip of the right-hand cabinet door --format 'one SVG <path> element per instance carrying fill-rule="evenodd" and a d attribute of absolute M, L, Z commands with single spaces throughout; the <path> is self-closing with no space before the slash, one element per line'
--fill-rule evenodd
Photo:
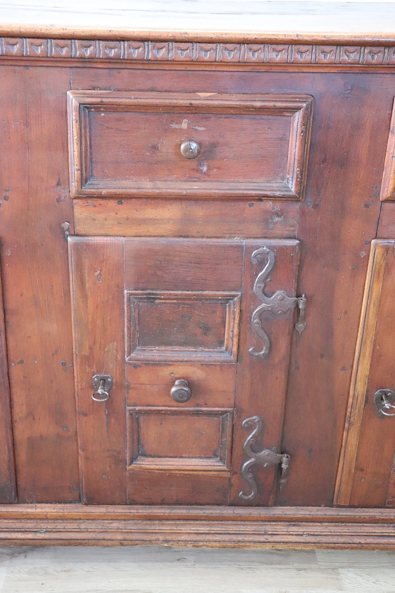
<path fill-rule="evenodd" d="M 378 315 L 381 315 L 381 289 L 388 256 L 393 251 L 393 241 L 372 241 L 362 301 L 361 320 L 354 365 L 352 368 L 351 387 L 346 415 L 345 432 L 336 480 L 335 503 L 348 506 L 351 502 L 355 464 L 357 462 L 362 417 L 370 375 L 371 359 L 375 343 Z M 369 387 L 368 393 L 372 395 Z M 371 439 L 369 439 L 369 446 Z M 362 444 L 363 446 L 363 444 Z M 380 451 L 381 452 L 381 451 Z"/>

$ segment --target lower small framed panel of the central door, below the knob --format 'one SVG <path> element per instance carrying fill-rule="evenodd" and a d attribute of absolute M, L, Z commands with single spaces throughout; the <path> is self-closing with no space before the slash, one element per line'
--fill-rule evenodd
<path fill-rule="evenodd" d="M 232 410 L 128 408 L 128 467 L 229 471 Z"/>

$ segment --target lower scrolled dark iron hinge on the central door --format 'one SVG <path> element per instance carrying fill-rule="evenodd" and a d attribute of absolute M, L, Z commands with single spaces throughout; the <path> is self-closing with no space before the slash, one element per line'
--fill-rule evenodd
<path fill-rule="evenodd" d="M 262 434 L 264 430 L 264 422 L 259 416 L 252 416 L 246 418 L 242 423 L 243 428 L 249 428 L 255 424 L 251 435 L 249 435 L 243 445 L 243 451 L 249 458 L 242 465 L 242 476 L 250 487 L 250 492 L 246 494 L 244 491 L 239 493 L 240 498 L 243 500 L 252 500 L 258 493 L 258 486 L 256 485 L 255 478 L 251 473 L 252 466 L 261 467 L 274 467 L 281 464 L 281 474 L 278 479 L 278 487 L 281 490 L 284 487 L 285 482 L 288 479 L 288 466 L 290 464 L 290 455 L 287 453 L 276 453 L 272 449 L 263 449 L 262 451 L 253 451 L 252 445 L 255 444 L 256 439 Z"/>

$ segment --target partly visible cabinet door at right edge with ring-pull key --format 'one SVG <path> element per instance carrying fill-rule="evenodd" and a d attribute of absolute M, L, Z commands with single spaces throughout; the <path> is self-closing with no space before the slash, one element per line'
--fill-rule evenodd
<path fill-rule="evenodd" d="M 339 505 L 395 506 L 394 248 L 393 240 L 372 241 L 336 484 Z"/>

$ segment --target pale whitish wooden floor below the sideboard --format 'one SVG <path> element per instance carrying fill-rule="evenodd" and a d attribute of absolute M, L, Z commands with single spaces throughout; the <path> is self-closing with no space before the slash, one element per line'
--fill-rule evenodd
<path fill-rule="evenodd" d="M 2 593 L 395 592 L 395 552 L 0 548 Z"/>

